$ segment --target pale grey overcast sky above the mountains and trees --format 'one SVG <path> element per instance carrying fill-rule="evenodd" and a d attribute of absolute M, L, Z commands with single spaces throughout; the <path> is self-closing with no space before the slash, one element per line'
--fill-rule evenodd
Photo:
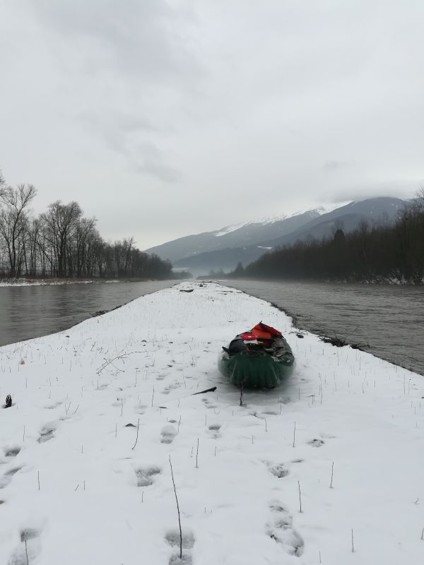
<path fill-rule="evenodd" d="M 0 169 L 141 249 L 424 186 L 423 0 L 0 0 Z"/>

